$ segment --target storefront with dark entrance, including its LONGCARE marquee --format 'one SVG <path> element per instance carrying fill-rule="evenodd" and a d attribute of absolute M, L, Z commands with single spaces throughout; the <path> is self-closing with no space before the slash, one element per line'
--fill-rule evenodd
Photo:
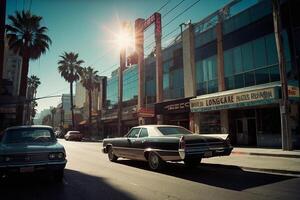
<path fill-rule="evenodd" d="M 281 147 L 278 83 L 198 96 L 190 100 L 200 134 L 229 133 L 234 145 Z M 299 145 L 298 104 L 291 105 L 290 126 Z"/>

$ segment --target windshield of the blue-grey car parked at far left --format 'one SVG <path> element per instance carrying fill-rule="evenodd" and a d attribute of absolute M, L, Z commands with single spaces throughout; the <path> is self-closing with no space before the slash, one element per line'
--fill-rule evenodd
<path fill-rule="evenodd" d="M 49 129 L 24 128 L 6 131 L 3 136 L 4 144 L 15 143 L 46 143 L 54 142 L 55 137 Z"/>

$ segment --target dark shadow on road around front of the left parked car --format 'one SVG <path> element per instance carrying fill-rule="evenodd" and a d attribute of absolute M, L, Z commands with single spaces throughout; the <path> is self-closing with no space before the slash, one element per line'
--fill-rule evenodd
<path fill-rule="evenodd" d="M 0 179 L 1 200 L 93 200 L 134 199 L 105 179 L 65 169 L 65 178 L 57 183 L 40 174 L 27 174 Z"/>

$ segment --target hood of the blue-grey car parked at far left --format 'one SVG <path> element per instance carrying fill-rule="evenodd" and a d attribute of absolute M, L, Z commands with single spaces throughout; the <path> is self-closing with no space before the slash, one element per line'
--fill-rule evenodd
<path fill-rule="evenodd" d="M 17 153 L 42 153 L 42 152 L 65 152 L 64 147 L 58 142 L 51 143 L 20 143 L 1 144 L 0 154 Z"/>

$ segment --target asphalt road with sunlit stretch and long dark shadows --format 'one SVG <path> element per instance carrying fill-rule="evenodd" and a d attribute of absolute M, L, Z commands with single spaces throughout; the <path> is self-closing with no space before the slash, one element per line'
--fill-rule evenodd
<path fill-rule="evenodd" d="M 300 199 L 300 178 L 205 164 L 169 164 L 160 173 L 144 162 L 111 163 L 100 143 L 60 141 L 68 164 L 63 183 L 19 176 L 0 183 L 0 199 Z"/>

